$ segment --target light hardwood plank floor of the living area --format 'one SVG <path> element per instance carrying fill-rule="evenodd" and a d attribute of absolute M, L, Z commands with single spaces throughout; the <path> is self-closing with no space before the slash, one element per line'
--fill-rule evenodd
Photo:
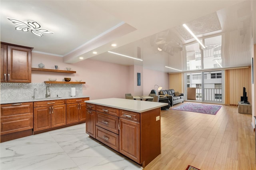
<path fill-rule="evenodd" d="M 162 110 L 162 154 L 144 170 L 256 170 L 251 123 L 236 106 L 222 105 L 216 115 Z"/>

